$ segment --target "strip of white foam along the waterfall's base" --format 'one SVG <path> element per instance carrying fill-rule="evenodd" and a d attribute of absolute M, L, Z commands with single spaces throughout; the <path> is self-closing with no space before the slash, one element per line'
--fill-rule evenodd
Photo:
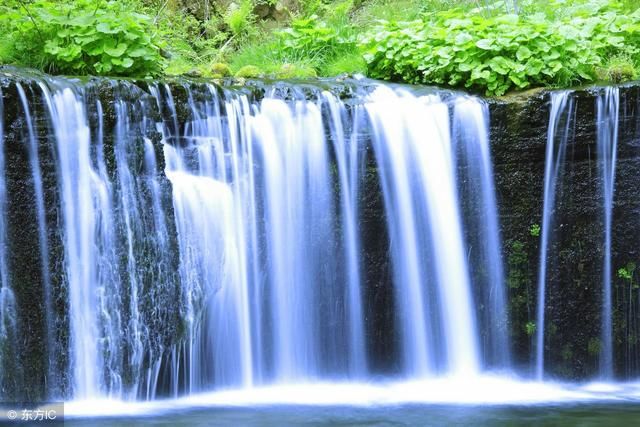
<path fill-rule="evenodd" d="M 545 405 L 640 400 L 640 383 L 583 385 L 520 381 L 507 376 L 447 377 L 405 382 L 299 383 L 202 393 L 147 402 L 82 400 L 65 417 L 139 417 L 223 407 L 397 405 Z"/>

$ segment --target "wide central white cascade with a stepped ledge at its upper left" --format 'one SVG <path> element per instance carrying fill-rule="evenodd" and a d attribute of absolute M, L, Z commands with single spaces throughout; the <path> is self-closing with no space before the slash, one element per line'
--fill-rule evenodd
<path fill-rule="evenodd" d="M 166 87 L 154 92 L 172 103 Z M 324 99 L 333 102 L 333 125 L 342 135 L 335 144 L 343 144 L 340 107 L 328 94 Z M 184 148 L 166 146 L 165 157 L 173 183 L 188 319 L 193 319 L 189 349 L 177 351 L 189 355 L 184 362 L 187 382 L 204 379 L 190 390 L 365 371 L 363 331 L 357 326 L 363 319 L 354 193 L 341 196 L 349 221 L 343 236 L 349 260 L 344 292 L 336 281 L 342 274 L 334 258 L 340 244 L 319 105 L 265 99 L 250 106 L 243 96 L 230 97 L 224 100 L 228 120 L 223 123 L 218 102 L 213 87 L 204 102 L 190 95 L 194 120 L 185 135 L 170 135 L 174 130 L 164 127 L 166 138 L 188 141 Z M 174 108 L 169 111 L 175 115 Z M 354 180 L 348 170 L 339 173 L 343 180 Z M 203 209 L 207 212 L 200 213 Z M 213 246 L 200 248 L 202 244 Z M 194 277 L 203 265 L 214 275 Z M 345 305 L 351 307 L 349 313 L 343 312 Z M 197 322 L 198 306 L 210 310 L 202 324 Z M 328 309 L 325 313 L 322 306 Z M 358 318 L 349 331 L 345 316 Z M 326 330 L 323 318 L 337 329 Z M 215 372 L 200 371 L 207 365 L 215 366 Z M 180 375 L 177 368 L 173 371 Z"/>

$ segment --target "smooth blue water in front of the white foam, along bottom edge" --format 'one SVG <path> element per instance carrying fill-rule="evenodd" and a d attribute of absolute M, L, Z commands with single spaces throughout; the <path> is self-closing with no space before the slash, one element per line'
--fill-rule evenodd
<path fill-rule="evenodd" d="M 76 419 L 68 426 L 633 426 L 640 404 L 545 406 L 398 405 L 192 408 L 162 416 Z"/>

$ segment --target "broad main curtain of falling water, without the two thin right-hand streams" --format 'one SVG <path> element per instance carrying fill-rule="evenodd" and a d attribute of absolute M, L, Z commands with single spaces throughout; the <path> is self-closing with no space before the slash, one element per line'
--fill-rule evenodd
<path fill-rule="evenodd" d="M 391 364 L 402 379 L 509 367 L 480 101 L 381 85 L 355 103 L 275 86 L 256 97 L 207 84 L 41 78 L 29 91 L 44 100 L 51 134 L 51 153 L 35 148 L 43 142 L 32 125 L 23 136 L 41 200 L 42 288 L 45 299 L 68 295 L 68 308 L 51 303 L 45 327 L 55 341 L 52 324 L 66 322 L 68 357 L 45 363 L 67 364 L 67 395 L 371 380 L 388 374 L 371 363 L 380 339 L 397 344 Z M 54 170 L 40 170 L 47 156 Z M 57 199 L 42 195 L 48 174 Z M 360 223 L 366 174 L 383 190 L 380 236 Z M 59 268 L 44 254 L 56 238 Z M 364 254 L 375 245 L 389 250 L 395 326 L 373 334 Z M 8 283 L 3 276 L 5 296 Z M 15 319 L 7 298 L 3 319 Z"/>

